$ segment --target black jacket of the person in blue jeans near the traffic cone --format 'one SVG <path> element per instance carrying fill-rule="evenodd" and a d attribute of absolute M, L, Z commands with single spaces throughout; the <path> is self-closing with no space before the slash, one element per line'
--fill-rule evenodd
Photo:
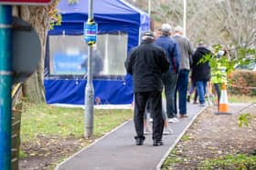
<path fill-rule="evenodd" d="M 210 67 L 208 62 L 200 63 L 201 58 L 204 55 L 210 55 L 210 51 L 204 47 L 197 47 L 196 52 L 194 53 L 193 57 L 193 65 L 192 65 L 192 80 L 193 81 L 208 81 L 210 79 Z"/>

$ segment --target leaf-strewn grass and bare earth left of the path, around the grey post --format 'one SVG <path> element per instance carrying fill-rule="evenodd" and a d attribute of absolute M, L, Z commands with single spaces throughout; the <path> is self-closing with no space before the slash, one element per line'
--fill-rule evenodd
<path fill-rule="evenodd" d="M 84 110 L 23 102 L 19 167 L 52 170 L 95 139 L 131 120 L 131 109 L 94 109 L 93 133 L 84 138 Z"/>

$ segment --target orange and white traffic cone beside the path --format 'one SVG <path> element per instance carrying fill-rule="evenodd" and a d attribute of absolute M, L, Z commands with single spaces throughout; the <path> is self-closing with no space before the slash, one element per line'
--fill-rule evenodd
<path fill-rule="evenodd" d="M 229 113 L 229 101 L 228 101 L 228 93 L 227 93 L 226 83 L 223 83 L 222 87 L 221 87 L 218 114 L 230 114 Z"/>

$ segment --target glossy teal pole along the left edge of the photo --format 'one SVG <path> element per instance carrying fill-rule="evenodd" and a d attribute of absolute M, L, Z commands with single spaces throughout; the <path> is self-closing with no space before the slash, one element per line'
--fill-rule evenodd
<path fill-rule="evenodd" d="M 11 169 L 12 6 L 0 5 L 0 169 Z"/>

